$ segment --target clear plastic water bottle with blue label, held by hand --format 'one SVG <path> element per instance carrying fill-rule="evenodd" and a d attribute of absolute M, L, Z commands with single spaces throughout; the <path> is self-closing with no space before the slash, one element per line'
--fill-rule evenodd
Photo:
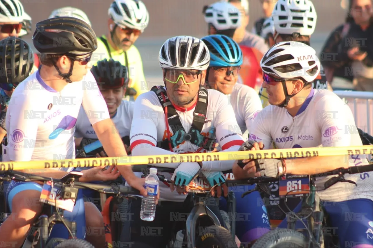
<path fill-rule="evenodd" d="M 150 174 L 145 178 L 145 189 L 148 193 L 141 200 L 140 218 L 145 221 L 153 221 L 156 216 L 156 198 L 158 194 L 159 178 L 157 169 L 150 168 Z"/>

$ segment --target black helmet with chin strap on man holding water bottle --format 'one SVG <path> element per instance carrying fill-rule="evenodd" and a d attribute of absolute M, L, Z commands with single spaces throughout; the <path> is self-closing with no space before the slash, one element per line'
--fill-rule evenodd
<path fill-rule="evenodd" d="M 36 23 L 32 42 L 39 53 L 62 54 L 74 60 L 74 57 L 91 54 L 97 49 L 97 37 L 86 22 L 68 16 L 59 16 Z M 73 61 L 72 61 L 73 62 Z M 58 74 L 68 83 L 74 63 L 68 73 L 61 73 L 56 63 L 53 64 Z"/>

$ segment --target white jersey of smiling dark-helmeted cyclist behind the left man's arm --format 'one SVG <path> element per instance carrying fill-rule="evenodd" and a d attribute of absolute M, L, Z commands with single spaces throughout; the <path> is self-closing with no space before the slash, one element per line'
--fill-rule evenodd
<path fill-rule="evenodd" d="M 119 132 L 120 137 L 129 136 L 131 130 L 132 117 L 134 115 L 134 102 L 122 100 L 117 108 L 112 121 Z M 78 120 L 76 120 L 75 134 L 76 138 L 97 139 L 97 135 L 92 127 L 83 106 L 79 110 Z"/>

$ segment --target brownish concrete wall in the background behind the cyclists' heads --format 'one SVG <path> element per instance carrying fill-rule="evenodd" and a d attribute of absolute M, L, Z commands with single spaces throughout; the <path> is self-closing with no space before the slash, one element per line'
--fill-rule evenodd
<path fill-rule="evenodd" d="M 48 18 L 52 10 L 73 6 L 87 13 L 97 35 L 107 31 L 107 9 L 111 0 L 21 0 L 25 11 L 31 16 L 32 23 Z M 143 0 L 150 14 L 150 24 L 145 30 L 145 37 L 172 37 L 176 35 L 203 36 L 206 24 L 203 20 L 202 7 L 214 3 L 214 0 Z M 344 19 L 345 12 L 340 7 L 340 0 L 313 0 L 318 20 L 316 33 L 332 30 Z M 254 21 L 261 17 L 259 0 L 250 0 L 251 30 Z M 31 35 L 27 38 L 31 38 Z"/>

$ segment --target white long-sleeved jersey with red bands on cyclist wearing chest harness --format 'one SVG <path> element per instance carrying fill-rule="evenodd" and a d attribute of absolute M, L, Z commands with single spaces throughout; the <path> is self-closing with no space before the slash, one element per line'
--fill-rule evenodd
<path fill-rule="evenodd" d="M 213 126 L 216 139 L 223 151 L 237 151 L 244 140 L 236 122 L 232 106 L 228 104 L 227 97 L 219 91 L 213 89 L 208 89 L 207 91 L 209 94 L 207 113 L 201 134 L 203 136 L 208 135 L 210 128 Z M 193 121 L 195 105 L 188 109 L 175 106 L 175 109 L 179 114 L 185 131 L 189 131 Z M 172 132 L 171 127 L 169 129 Z M 134 118 L 130 134 L 132 156 L 194 153 L 199 148 L 189 141 L 185 141 L 175 147 L 173 149 L 174 152 L 157 147 L 157 142 L 166 139 L 166 134 L 165 115 L 157 95 L 153 91 L 142 93 L 136 99 L 134 107 Z M 179 163 L 161 163 L 156 165 L 176 169 Z M 225 171 L 231 169 L 232 165 L 233 161 L 204 161 L 202 169 L 206 171 Z M 160 174 L 168 179 L 171 178 L 170 174 Z M 137 173 L 137 175 L 140 177 L 141 173 Z M 161 183 L 160 197 L 161 200 L 184 201 L 186 196 L 179 195 L 176 191 L 171 192 L 168 185 Z"/>

